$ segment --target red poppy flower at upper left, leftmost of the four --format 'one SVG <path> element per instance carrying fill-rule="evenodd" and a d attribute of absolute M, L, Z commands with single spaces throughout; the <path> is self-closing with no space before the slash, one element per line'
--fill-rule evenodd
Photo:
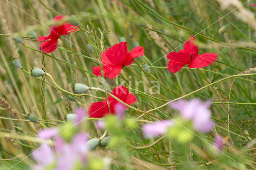
<path fill-rule="evenodd" d="M 62 20 L 65 20 L 65 18 L 66 16 L 64 15 L 62 16 L 57 15 L 54 18 L 54 22 L 61 22 Z M 72 28 L 72 27 L 75 27 L 75 28 Z M 64 24 L 61 24 L 61 25 L 51 26 L 49 29 L 50 31 L 49 36 L 47 37 L 40 36 L 37 39 L 38 42 L 47 40 L 41 43 L 40 50 L 45 53 L 53 52 L 57 48 L 58 38 L 60 38 L 60 36 L 68 35 L 70 32 L 76 31 L 76 28 L 78 28 L 78 26 L 73 26 L 68 22 L 64 22 Z"/>

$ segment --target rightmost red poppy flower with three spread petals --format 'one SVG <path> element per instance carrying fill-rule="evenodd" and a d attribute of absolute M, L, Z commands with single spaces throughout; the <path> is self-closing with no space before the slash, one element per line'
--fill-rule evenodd
<path fill-rule="evenodd" d="M 176 73 L 187 64 L 190 69 L 207 67 L 210 63 L 215 62 L 217 56 L 218 54 L 216 53 L 204 53 L 198 55 L 196 38 L 194 38 L 194 36 L 190 36 L 184 44 L 184 49 L 181 49 L 178 53 L 168 53 L 167 58 L 170 59 L 168 69 L 170 72 Z"/>

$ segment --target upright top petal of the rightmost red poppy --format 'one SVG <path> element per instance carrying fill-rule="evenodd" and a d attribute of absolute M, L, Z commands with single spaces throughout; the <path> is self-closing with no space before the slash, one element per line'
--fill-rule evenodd
<path fill-rule="evenodd" d="M 190 36 L 184 44 L 184 53 L 190 54 L 192 57 L 198 55 L 198 46 L 196 45 L 196 38 L 194 38 L 194 36 Z"/>

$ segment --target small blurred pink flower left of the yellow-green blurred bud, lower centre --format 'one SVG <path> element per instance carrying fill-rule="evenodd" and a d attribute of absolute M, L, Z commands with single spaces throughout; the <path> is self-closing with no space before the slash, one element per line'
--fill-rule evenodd
<path fill-rule="evenodd" d="M 168 127 L 174 125 L 172 120 L 158 121 L 154 124 L 147 123 L 143 125 L 142 130 L 145 138 L 154 138 L 166 133 Z"/>

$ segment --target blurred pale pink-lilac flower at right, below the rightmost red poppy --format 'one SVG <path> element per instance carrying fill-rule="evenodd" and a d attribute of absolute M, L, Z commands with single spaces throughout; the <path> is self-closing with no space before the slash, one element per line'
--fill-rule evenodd
<path fill-rule="evenodd" d="M 195 130 L 200 132 L 210 132 L 212 130 L 210 104 L 203 104 L 199 99 L 191 101 L 181 99 L 176 103 L 170 103 L 170 106 L 178 110 L 184 119 L 192 120 Z"/>

